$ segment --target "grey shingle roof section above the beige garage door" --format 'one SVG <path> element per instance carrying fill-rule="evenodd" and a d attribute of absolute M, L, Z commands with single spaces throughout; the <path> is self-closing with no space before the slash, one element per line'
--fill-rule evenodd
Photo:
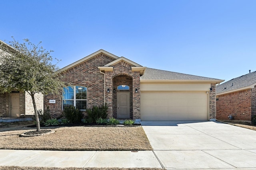
<path fill-rule="evenodd" d="M 154 82 L 154 81 L 187 81 L 187 82 L 212 82 L 220 83 L 224 80 L 216 78 L 208 78 L 202 76 L 194 76 L 190 74 L 183 74 L 178 72 L 171 72 L 165 70 L 158 70 L 154 68 L 146 68 L 144 75 L 140 77 L 141 82 Z"/>

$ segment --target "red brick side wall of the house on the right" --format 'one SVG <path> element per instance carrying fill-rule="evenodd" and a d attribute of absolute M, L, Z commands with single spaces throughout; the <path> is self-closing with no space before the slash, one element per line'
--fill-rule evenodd
<path fill-rule="evenodd" d="M 253 93 L 252 93 L 253 91 Z M 252 106 L 255 106 L 255 88 L 239 92 L 219 95 L 216 102 L 218 120 L 229 120 L 228 115 L 232 115 L 234 120 L 251 121 Z M 252 100 L 252 96 L 254 96 Z M 254 101 L 254 104 L 252 104 Z"/>

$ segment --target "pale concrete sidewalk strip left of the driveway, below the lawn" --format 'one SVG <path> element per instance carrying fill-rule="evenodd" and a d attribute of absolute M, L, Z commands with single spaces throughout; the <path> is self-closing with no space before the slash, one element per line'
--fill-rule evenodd
<path fill-rule="evenodd" d="M 162 168 L 153 151 L 0 150 L 0 166 Z"/>

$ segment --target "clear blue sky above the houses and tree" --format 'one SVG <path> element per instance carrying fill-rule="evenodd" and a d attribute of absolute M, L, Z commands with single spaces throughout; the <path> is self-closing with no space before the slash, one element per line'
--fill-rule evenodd
<path fill-rule="evenodd" d="M 0 4 L 0 39 L 42 41 L 60 68 L 104 49 L 149 68 L 222 80 L 256 71 L 256 0 Z"/>

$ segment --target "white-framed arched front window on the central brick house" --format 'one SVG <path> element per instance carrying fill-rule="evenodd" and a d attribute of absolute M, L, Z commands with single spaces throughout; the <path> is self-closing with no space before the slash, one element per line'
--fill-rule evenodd
<path fill-rule="evenodd" d="M 62 109 L 74 106 L 80 110 L 87 109 L 87 88 L 83 86 L 68 86 L 63 88 Z"/>

